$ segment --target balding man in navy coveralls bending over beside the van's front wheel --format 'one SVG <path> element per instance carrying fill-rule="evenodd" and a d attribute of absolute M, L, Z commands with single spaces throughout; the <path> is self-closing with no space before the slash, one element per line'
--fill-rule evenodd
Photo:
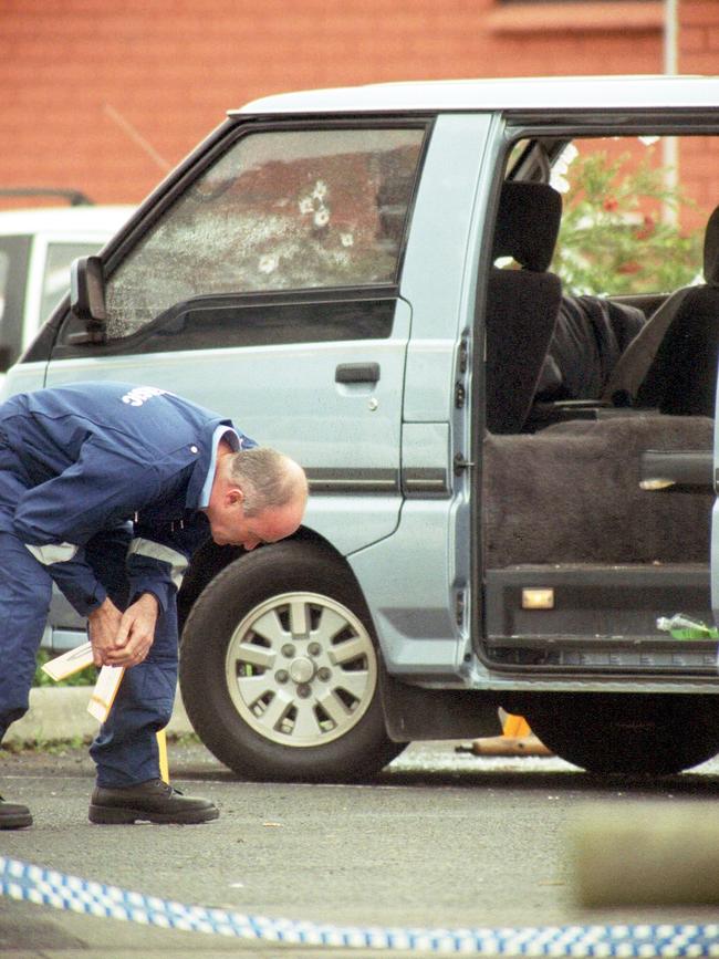
<path fill-rule="evenodd" d="M 87 617 L 96 666 L 124 666 L 91 747 L 94 823 L 198 823 L 204 799 L 159 776 L 177 682 L 176 595 L 208 538 L 252 550 L 291 535 L 302 468 L 171 393 L 79 383 L 0 406 L 0 740 L 28 710 L 52 583 Z M 32 823 L 0 800 L 0 828 Z"/>

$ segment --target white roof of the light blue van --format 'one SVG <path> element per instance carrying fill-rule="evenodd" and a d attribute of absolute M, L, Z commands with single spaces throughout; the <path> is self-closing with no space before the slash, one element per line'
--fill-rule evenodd
<path fill-rule="evenodd" d="M 719 106 L 719 77 L 544 76 L 377 83 L 254 100 L 231 116 L 275 113 L 395 113 Z"/>

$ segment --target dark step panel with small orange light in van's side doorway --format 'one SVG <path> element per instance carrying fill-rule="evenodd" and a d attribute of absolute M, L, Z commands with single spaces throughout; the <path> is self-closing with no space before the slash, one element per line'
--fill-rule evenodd
<path fill-rule="evenodd" d="M 716 676 L 716 639 L 657 629 L 658 617 L 679 612 L 712 622 L 708 565 L 489 570 L 482 655 L 494 669 Z"/>

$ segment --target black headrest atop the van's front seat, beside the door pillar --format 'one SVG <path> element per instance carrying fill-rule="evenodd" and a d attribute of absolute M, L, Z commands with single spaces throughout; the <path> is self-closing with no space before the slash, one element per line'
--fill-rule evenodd
<path fill-rule="evenodd" d="M 492 260 L 512 257 L 528 270 L 544 272 L 554 253 L 562 219 L 562 196 L 549 184 L 507 180 L 502 185 Z"/>

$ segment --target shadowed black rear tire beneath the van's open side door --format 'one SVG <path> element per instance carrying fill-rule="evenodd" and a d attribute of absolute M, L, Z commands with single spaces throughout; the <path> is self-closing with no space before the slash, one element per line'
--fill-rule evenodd
<path fill-rule="evenodd" d="M 525 716 L 546 747 L 587 772 L 664 775 L 719 752 L 715 696 L 556 696 Z"/>

